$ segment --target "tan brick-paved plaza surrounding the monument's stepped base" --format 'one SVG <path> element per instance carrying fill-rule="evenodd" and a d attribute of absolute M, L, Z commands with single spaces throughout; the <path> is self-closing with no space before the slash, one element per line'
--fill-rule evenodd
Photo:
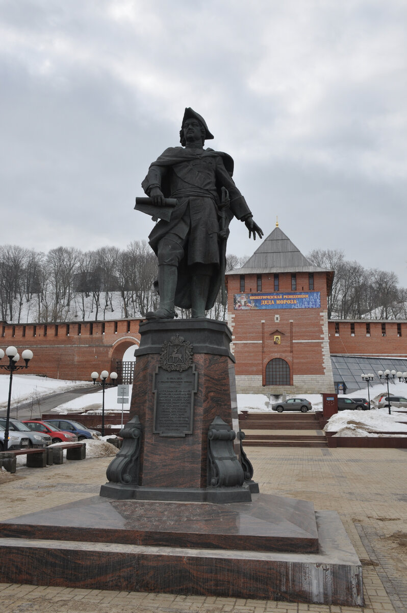
<path fill-rule="evenodd" d="M 407 613 L 407 450 L 245 447 L 260 491 L 337 511 L 363 565 L 365 607 L 0 584 L 9 613 Z M 0 473 L 0 520 L 99 493 L 110 457 Z"/>

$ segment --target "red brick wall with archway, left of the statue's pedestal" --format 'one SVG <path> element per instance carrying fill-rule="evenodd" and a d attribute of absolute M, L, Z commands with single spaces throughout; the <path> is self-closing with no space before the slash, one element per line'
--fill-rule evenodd
<path fill-rule="evenodd" d="M 14 345 L 20 356 L 24 349 L 31 349 L 34 357 L 21 372 L 89 381 L 94 370 L 116 370 L 116 360 L 139 343 L 139 321 L 0 324 L 0 347 Z"/>

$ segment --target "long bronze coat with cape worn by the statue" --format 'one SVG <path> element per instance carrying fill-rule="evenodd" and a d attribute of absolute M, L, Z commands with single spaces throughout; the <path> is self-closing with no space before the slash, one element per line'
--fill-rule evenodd
<path fill-rule="evenodd" d="M 209 148 L 170 147 L 151 164 L 141 184 L 147 196 L 153 186 L 158 186 L 166 198 L 176 198 L 178 201 L 170 221 L 161 219 L 149 235 L 149 244 L 155 254 L 160 240 L 168 232 L 185 238 L 185 228 L 189 228 L 185 256 L 178 271 L 177 307 L 191 307 L 189 267 L 196 263 L 214 265 L 206 309 L 212 308 L 215 303 L 220 287 L 221 188 L 225 187 L 230 196 L 230 206 L 224 211 L 226 225 L 233 216 L 244 221 L 252 215 L 244 197 L 234 185 L 232 173 L 233 159 L 226 153 Z"/>

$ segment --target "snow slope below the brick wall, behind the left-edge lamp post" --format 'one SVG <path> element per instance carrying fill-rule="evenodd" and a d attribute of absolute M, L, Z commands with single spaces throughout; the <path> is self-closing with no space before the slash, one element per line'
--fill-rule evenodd
<path fill-rule="evenodd" d="M 7 408 L 9 398 L 10 375 L 0 375 L 0 408 Z M 37 375 L 13 375 L 12 408 L 23 402 L 37 404 L 44 398 L 57 392 L 67 392 L 76 387 L 88 387 L 86 381 L 64 381 L 64 379 L 49 379 Z"/>

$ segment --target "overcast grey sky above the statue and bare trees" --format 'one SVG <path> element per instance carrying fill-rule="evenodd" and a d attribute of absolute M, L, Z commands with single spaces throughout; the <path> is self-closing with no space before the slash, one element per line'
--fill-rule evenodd
<path fill-rule="evenodd" d="M 267 236 L 407 286 L 406 0 L 0 0 L 0 244 L 125 247 L 184 108 Z M 234 220 L 228 251 L 251 255 Z"/>

